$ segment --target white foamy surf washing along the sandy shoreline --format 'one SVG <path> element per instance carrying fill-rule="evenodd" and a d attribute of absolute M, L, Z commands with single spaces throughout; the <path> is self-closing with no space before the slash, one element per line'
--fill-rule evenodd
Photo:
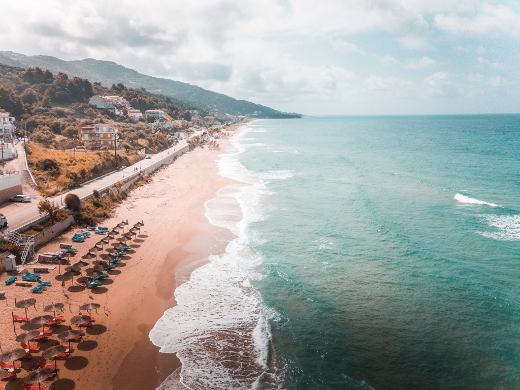
<path fill-rule="evenodd" d="M 269 191 L 262 178 L 239 161 L 245 150 L 241 137 L 248 130 L 231 137 L 235 150 L 216 161 L 219 174 L 237 182 L 205 204 L 209 221 L 237 238 L 229 242 L 226 253 L 210 256 L 209 263 L 177 287 L 177 306 L 166 310 L 150 332 L 153 344 L 164 353 L 177 353 L 183 363 L 180 373 L 168 377 L 161 390 L 182 385 L 193 390 L 251 389 L 260 386 L 261 378 L 277 382 L 268 364 L 268 320 L 276 313 L 265 307 L 250 284 L 262 278 L 256 271 L 262 258 L 249 246 L 246 229 L 263 218 L 259 204 Z M 269 174 L 290 177 L 283 171 Z"/>

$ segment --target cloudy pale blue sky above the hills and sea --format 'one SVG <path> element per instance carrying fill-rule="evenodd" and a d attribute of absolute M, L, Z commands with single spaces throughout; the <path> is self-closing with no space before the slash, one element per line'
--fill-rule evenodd
<path fill-rule="evenodd" d="M 520 2 L 5 2 L 0 49 L 305 115 L 520 112 Z"/>

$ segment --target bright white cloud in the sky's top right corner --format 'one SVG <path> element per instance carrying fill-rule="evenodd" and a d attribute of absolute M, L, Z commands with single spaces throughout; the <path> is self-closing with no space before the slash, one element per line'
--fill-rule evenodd
<path fill-rule="evenodd" d="M 483 4 L 473 17 L 460 16 L 453 12 L 435 15 L 435 26 L 452 34 L 486 34 L 503 32 L 511 35 L 520 33 L 520 14 L 504 5 Z"/>

